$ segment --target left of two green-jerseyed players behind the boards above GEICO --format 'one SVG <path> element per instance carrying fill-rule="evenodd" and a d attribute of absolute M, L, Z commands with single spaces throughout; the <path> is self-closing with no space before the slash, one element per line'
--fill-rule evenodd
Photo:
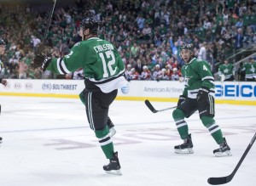
<path fill-rule="evenodd" d="M 221 82 L 234 81 L 235 68 L 234 65 L 229 64 L 228 60 L 224 60 L 224 64 L 218 67 L 218 76 L 220 76 Z"/>

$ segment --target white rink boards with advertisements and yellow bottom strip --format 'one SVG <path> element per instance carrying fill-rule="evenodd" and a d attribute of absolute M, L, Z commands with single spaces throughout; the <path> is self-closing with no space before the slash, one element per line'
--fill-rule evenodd
<path fill-rule="evenodd" d="M 8 80 L 7 87 L 0 85 L 0 95 L 51 97 L 78 99 L 84 89 L 82 80 Z M 151 101 L 177 102 L 183 93 L 183 82 L 167 81 L 131 81 L 130 93 L 119 91 L 118 100 L 149 99 Z M 217 104 L 251 104 L 256 105 L 255 82 L 215 82 L 215 99 Z"/>

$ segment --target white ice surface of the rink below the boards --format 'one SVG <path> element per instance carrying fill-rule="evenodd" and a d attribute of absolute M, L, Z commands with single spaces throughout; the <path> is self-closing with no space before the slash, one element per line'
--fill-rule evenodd
<path fill-rule="evenodd" d="M 256 132 L 256 106 L 216 104 L 215 119 L 231 148 L 218 158 L 198 113 L 186 121 L 193 155 L 177 155 L 181 144 L 172 110 L 153 114 L 142 101 L 115 101 L 111 117 L 122 176 L 108 175 L 108 160 L 90 130 L 79 99 L 0 97 L 0 186 L 204 186 L 235 168 Z M 152 102 L 157 110 L 175 103 Z M 256 185 L 256 144 L 226 185 Z"/>

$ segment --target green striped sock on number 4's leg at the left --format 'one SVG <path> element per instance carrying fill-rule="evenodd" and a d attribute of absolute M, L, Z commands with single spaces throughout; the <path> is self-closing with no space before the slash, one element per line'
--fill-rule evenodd
<path fill-rule="evenodd" d="M 172 112 L 173 120 L 176 123 L 177 132 L 180 135 L 180 138 L 188 138 L 189 136 L 189 127 L 186 121 L 184 121 L 185 115 L 183 113 L 183 110 L 173 110 Z"/>

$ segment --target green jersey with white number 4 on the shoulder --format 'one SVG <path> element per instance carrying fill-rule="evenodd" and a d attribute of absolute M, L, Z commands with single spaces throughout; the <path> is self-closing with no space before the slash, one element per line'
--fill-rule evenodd
<path fill-rule="evenodd" d="M 210 95 L 214 96 L 214 78 L 211 67 L 203 59 L 191 59 L 188 64 L 183 65 L 182 75 L 185 81 L 183 96 L 190 99 L 196 99 L 201 87 L 207 87 Z"/>

